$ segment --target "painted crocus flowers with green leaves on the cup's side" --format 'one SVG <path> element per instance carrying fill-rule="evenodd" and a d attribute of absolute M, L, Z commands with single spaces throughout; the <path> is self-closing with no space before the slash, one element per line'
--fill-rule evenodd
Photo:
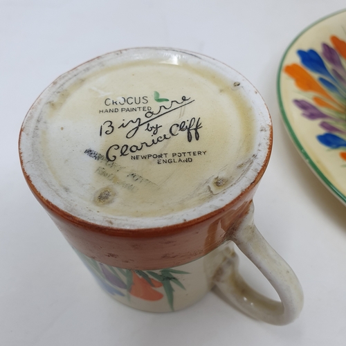
<path fill-rule="evenodd" d="M 189 274 L 173 268 L 159 271 L 137 271 L 123 269 L 93 260 L 79 251 L 75 252 L 89 268 L 95 279 L 111 295 L 120 295 L 131 300 L 131 296 L 148 301 L 167 299 L 174 311 L 174 289 L 185 287 L 176 275 Z"/>

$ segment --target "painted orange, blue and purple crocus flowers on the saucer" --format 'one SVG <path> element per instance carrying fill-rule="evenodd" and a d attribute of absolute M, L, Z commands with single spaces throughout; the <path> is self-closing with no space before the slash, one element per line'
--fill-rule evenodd
<path fill-rule="evenodd" d="M 346 42 L 337 36 L 322 43 L 318 53 L 313 49 L 297 51 L 301 64 L 284 67 L 295 85 L 309 98 L 295 99 L 302 116 L 317 120 L 325 131 L 316 136 L 326 147 L 338 149 L 346 161 Z"/>

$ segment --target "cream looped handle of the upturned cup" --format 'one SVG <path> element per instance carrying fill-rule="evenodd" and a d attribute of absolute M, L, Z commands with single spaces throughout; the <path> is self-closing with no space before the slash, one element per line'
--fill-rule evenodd
<path fill-rule="evenodd" d="M 302 287 L 291 267 L 257 230 L 253 203 L 230 240 L 260 269 L 281 301 L 266 298 L 246 284 L 238 271 L 239 257 L 232 248 L 226 248 L 226 257 L 214 278 L 221 293 L 244 313 L 272 325 L 286 325 L 298 318 L 303 305 Z"/>

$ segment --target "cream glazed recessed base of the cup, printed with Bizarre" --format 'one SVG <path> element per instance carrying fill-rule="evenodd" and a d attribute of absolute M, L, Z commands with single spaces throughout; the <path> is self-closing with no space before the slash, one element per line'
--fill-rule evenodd
<path fill-rule="evenodd" d="M 51 176 L 51 188 L 64 203 L 86 213 L 155 217 L 199 206 L 235 183 L 251 163 L 257 129 L 251 103 L 241 89 L 206 66 L 170 60 L 130 62 L 86 72 L 51 95 L 43 108 L 34 134 L 40 143 L 37 154 L 43 158 L 42 171 Z M 169 101 L 157 102 L 154 91 Z M 140 104 L 112 104 L 112 100 L 123 103 L 124 98 L 129 102 L 136 98 Z M 186 105 L 161 116 L 182 104 Z M 145 131 L 147 125 L 143 125 L 126 138 L 139 121 L 149 120 L 145 117 L 148 107 L 157 113 L 161 106 L 169 109 L 161 108 L 158 118 L 147 123 L 154 129 L 161 126 L 156 134 L 154 129 Z M 136 107 L 136 111 L 122 111 Z M 106 109 L 118 112 L 104 113 Z M 174 124 L 188 124 L 193 118 L 189 142 L 188 131 L 176 131 Z M 110 125 L 113 132 L 107 134 L 112 131 Z M 164 134 L 170 138 L 157 145 L 120 153 L 123 145 L 150 145 Z M 119 149 L 109 149 L 112 145 Z M 115 161 L 107 160 L 108 149 L 108 158 L 117 156 Z M 141 158 L 148 154 L 152 157 Z"/>

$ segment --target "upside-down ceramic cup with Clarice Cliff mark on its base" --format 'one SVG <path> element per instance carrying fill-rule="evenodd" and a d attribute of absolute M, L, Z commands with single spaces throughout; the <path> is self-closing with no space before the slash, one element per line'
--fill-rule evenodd
<path fill-rule="evenodd" d="M 19 153 L 30 190 L 116 300 L 174 311 L 217 285 L 248 315 L 284 325 L 302 290 L 253 224 L 271 145 L 266 104 L 242 75 L 196 53 L 134 48 L 48 86 Z M 233 244 L 279 302 L 244 282 Z"/>

